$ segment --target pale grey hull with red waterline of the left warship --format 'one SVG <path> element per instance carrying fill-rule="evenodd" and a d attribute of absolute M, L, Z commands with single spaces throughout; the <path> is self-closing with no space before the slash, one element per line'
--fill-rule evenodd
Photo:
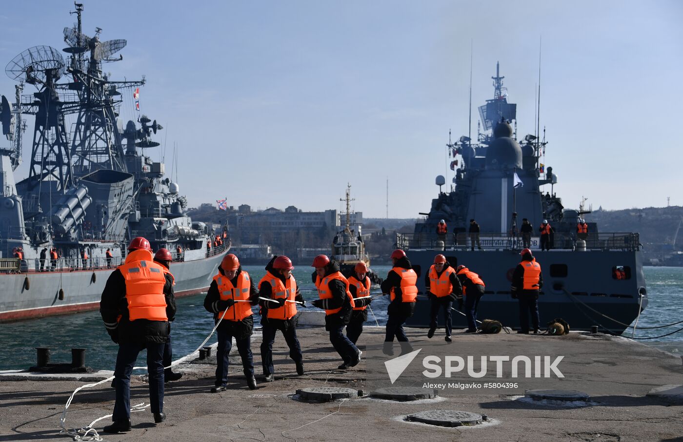
<path fill-rule="evenodd" d="M 186 259 L 190 258 L 186 256 Z M 176 280 L 173 288 L 176 297 L 207 291 L 222 258 L 221 253 L 208 258 L 171 263 L 171 273 Z M 112 271 L 113 268 L 105 268 L 0 274 L 0 286 L 3 288 L 0 322 L 96 310 L 100 308 L 104 284 Z M 61 299 L 60 290 L 63 293 Z"/>

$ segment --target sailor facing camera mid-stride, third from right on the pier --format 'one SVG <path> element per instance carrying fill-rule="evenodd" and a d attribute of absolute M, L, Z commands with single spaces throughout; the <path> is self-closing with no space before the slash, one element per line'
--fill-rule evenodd
<path fill-rule="evenodd" d="M 429 293 L 431 302 L 430 325 L 427 333 L 428 338 L 434 336 L 436 331 L 438 309 L 443 308 L 443 316 L 446 326 L 446 342 L 451 342 L 451 307 L 457 296 L 462 296 L 462 286 L 456 276 L 456 270 L 446 262 L 443 254 L 434 256 L 434 264 L 425 275 L 425 287 Z"/>

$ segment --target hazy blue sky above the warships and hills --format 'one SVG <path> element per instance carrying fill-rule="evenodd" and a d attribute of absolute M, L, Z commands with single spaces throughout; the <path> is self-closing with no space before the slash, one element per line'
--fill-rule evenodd
<path fill-rule="evenodd" d="M 61 50 L 72 1 L 4 3 L 0 60 Z M 346 183 L 366 217 L 428 211 L 445 143 L 492 98 L 501 63 L 518 135 L 533 133 L 542 39 L 541 126 L 565 207 L 683 205 L 679 1 L 85 2 L 83 31 L 124 38 L 113 79 L 145 75 L 143 113 L 178 145 L 191 206 L 339 209 Z M 14 96 L 0 76 L 0 92 Z M 27 86 L 26 92 L 32 86 Z M 133 117 L 126 98 L 122 117 Z M 473 113 L 473 133 L 477 130 Z M 32 136 L 32 122 L 26 132 Z M 30 143 L 24 143 L 27 174 Z M 163 149 L 150 149 L 158 160 Z M 452 176 L 452 175 L 450 175 Z M 447 180 L 449 181 L 449 179 Z"/>

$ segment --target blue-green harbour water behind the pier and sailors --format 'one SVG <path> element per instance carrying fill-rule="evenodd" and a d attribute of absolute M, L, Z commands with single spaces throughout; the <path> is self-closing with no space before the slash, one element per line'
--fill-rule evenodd
<path fill-rule="evenodd" d="M 261 266 L 245 266 L 249 274 L 259 281 L 265 274 Z M 390 267 L 373 267 L 380 276 L 385 276 Z M 301 293 L 307 301 L 318 297 L 311 282 L 310 267 L 296 267 L 296 278 Z M 683 267 L 645 267 L 647 293 L 650 304 L 641 315 L 639 327 L 653 327 L 683 320 Z M 380 293 L 373 289 L 372 294 Z M 380 297 L 372 303 L 379 325 L 387 321 L 387 297 Z M 178 299 L 178 314 L 171 327 L 173 338 L 173 359 L 191 353 L 204 341 L 213 328 L 212 314 L 204 310 L 204 295 Z M 312 306 L 306 310 L 318 310 Z M 256 309 L 255 309 L 256 310 Z M 255 321 L 258 324 L 258 320 Z M 372 314 L 368 325 L 375 324 Z M 683 324 L 665 329 L 639 329 L 637 337 L 660 336 Z M 624 336 L 630 336 L 626 331 Z M 209 342 L 216 342 L 215 336 Z M 656 340 L 641 341 L 655 347 L 683 353 L 683 331 Z M 87 366 L 96 370 L 113 370 L 117 344 L 111 342 L 104 330 L 99 312 L 85 312 L 65 316 L 0 324 L 0 370 L 23 369 L 36 364 L 36 347 L 52 349 L 51 362 L 70 362 L 71 349 L 85 348 Z M 138 359 L 144 365 L 144 355 Z"/>

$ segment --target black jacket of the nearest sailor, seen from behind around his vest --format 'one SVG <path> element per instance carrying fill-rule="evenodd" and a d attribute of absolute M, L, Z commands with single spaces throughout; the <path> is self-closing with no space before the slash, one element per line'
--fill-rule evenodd
<path fill-rule="evenodd" d="M 176 316 L 176 299 L 173 296 L 173 277 L 166 276 L 164 297 L 166 299 L 166 316 L 173 321 Z M 115 342 L 127 344 L 145 344 L 147 342 L 163 343 L 168 340 L 171 326 L 169 321 L 150 321 L 136 319 L 130 321 L 128 299 L 126 299 L 126 280 L 120 269 L 109 275 L 107 284 L 100 299 L 100 314 L 104 327 Z M 117 322 L 117 317 L 121 316 Z"/>

